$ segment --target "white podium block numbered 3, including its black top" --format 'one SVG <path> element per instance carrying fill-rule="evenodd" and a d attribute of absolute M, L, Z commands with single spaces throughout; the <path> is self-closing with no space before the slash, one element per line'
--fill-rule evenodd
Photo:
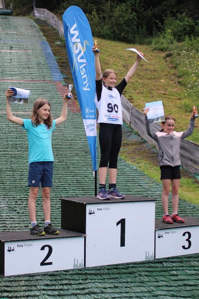
<path fill-rule="evenodd" d="M 199 253 L 199 219 L 183 218 L 173 224 L 155 220 L 155 259 Z"/>

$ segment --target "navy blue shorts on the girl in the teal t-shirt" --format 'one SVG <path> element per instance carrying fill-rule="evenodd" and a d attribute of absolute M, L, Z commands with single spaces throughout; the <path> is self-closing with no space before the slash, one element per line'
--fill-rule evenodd
<path fill-rule="evenodd" d="M 53 161 L 32 162 L 29 164 L 28 186 L 53 186 Z"/>

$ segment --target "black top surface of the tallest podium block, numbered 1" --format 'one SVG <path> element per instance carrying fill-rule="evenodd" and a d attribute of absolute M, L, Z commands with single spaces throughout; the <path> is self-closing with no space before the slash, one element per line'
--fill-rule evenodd
<path fill-rule="evenodd" d="M 125 195 L 125 198 L 123 199 L 106 199 L 102 200 L 95 196 L 88 196 L 88 197 L 60 197 L 62 200 L 67 200 L 70 202 L 78 202 L 83 204 L 88 203 L 113 203 L 113 202 L 143 202 L 143 201 L 155 201 L 157 199 L 150 198 L 150 197 L 141 197 L 141 196 L 134 196 L 134 195 Z"/>

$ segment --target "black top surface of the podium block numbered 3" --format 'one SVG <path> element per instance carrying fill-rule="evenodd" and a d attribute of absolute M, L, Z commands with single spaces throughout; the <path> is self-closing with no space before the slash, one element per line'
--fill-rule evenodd
<path fill-rule="evenodd" d="M 183 223 L 176 223 L 173 224 L 166 224 L 162 221 L 162 219 L 155 219 L 155 230 L 162 230 L 165 228 L 176 228 L 176 227 L 184 227 L 184 226 L 196 226 L 199 225 L 199 218 L 193 218 L 193 217 L 183 217 L 185 222 Z"/>

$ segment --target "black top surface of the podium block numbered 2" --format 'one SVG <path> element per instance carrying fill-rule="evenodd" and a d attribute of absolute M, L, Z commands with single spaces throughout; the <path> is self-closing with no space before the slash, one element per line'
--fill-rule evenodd
<path fill-rule="evenodd" d="M 85 237 L 86 234 L 77 233 L 71 230 L 58 229 L 58 235 L 45 234 L 43 236 L 30 235 L 30 230 L 24 231 L 4 231 L 0 232 L 0 242 L 35 240 L 35 239 L 49 239 L 49 238 L 67 238 L 67 237 Z"/>

